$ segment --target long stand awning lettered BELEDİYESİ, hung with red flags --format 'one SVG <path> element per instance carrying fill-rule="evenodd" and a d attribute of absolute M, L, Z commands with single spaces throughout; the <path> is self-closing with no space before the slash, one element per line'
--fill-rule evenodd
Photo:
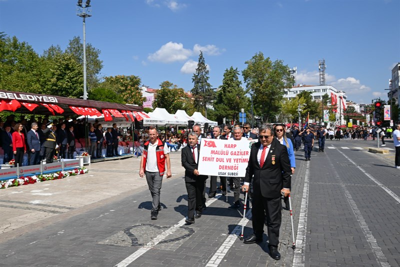
<path fill-rule="evenodd" d="M 56 95 L 0 90 L 0 111 L 42 115 L 106 115 L 124 117 L 123 112 L 142 111 L 143 107 L 131 104 L 83 100 Z"/>

